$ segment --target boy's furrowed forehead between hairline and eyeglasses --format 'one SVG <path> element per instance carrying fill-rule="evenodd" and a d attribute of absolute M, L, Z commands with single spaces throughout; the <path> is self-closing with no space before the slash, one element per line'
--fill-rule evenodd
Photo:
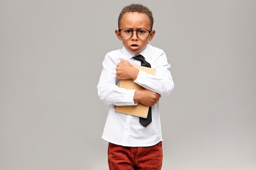
<path fill-rule="evenodd" d="M 121 28 L 147 28 L 150 29 L 148 15 L 139 12 L 125 13 L 120 22 Z"/>

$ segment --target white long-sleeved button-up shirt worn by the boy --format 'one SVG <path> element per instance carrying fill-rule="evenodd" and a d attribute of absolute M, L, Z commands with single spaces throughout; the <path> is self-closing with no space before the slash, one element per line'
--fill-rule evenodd
<path fill-rule="evenodd" d="M 168 70 L 170 64 L 167 62 L 164 51 L 148 44 L 140 54 L 151 64 L 151 68 L 156 68 L 156 73 L 150 75 L 139 71 L 134 82 L 160 95 L 170 95 L 174 84 Z M 152 122 L 146 128 L 139 123 L 139 117 L 116 112 L 114 108 L 114 106 L 137 105 L 138 103 L 133 100 L 135 90 L 118 87 L 116 78 L 117 64 L 121 59 L 128 60 L 131 64 L 141 65 L 140 61 L 132 58 L 134 55 L 123 47 L 123 49 L 107 53 L 103 60 L 103 69 L 97 88 L 99 98 L 109 104 L 110 109 L 102 138 L 121 146 L 153 146 L 162 141 L 159 102 L 152 106 Z"/>

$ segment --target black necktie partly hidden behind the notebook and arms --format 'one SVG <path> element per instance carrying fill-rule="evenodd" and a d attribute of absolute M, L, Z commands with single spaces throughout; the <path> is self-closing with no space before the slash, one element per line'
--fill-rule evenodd
<path fill-rule="evenodd" d="M 146 60 L 144 59 L 144 57 L 142 55 L 135 55 L 133 57 L 136 60 L 141 61 L 141 66 L 145 66 L 145 67 L 151 67 L 151 65 L 146 62 Z M 139 117 L 139 122 L 144 126 L 147 127 L 150 122 L 152 121 L 152 115 L 151 115 L 151 106 L 149 106 L 148 108 L 148 117 L 147 118 L 143 118 L 143 117 Z"/>

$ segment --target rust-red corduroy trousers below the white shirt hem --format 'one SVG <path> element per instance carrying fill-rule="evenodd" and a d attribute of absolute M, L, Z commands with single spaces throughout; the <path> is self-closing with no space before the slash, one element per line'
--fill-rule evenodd
<path fill-rule="evenodd" d="M 109 170 L 161 170 L 162 160 L 162 141 L 150 147 L 108 144 Z"/>

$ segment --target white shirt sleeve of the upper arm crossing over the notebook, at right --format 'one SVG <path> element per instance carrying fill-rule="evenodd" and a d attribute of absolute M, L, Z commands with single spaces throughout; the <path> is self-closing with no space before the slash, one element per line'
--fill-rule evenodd
<path fill-rule="evenodd" d="M 140 70 L 134 82 L 160 95 L 170 95 L 173 91 L 174 83 L 169 71 L 171 66 L 167 62 L 166 54 L 164 51 L 161 51 L 161 53 L 154 54 L 153 56 L 158 56 L 152 64 L 150 63 L 152 68 L 156 68 L 155 75 Z"/>

